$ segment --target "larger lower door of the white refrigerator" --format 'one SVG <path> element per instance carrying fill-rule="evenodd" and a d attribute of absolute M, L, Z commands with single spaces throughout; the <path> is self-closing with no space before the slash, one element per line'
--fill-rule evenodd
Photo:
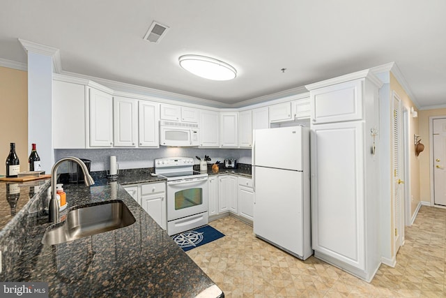
<path fill-rule="evenodd" d="M 254 234 L 302 257 L 302 172 L 256 167 Z"/>

